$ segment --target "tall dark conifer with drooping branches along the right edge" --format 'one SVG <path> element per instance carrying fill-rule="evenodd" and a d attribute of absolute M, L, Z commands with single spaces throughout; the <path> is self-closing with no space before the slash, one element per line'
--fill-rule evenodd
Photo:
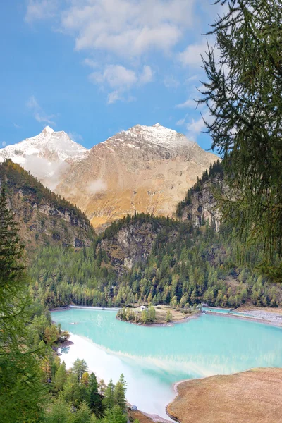
<path fill-rule="evenodd" d="M 244 242 L 264 245 L 269 263 L 262 270 L 281 282 L 281 1 L 219 2 L 226 9 L 211 31 L 219 60 L 209 47 L 200 100 L 214 117 L 207 128 L 229 188 L 219 204 Z"/>

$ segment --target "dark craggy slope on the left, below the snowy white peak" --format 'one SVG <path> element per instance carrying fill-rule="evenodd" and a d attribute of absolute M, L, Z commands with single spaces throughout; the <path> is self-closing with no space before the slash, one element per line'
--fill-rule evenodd
<path fill-rule="evenodd" d="M 19 223 L 20 238 L 33 250 L 39 245 L 90 245 L 94 231 L 84 213 L 54 194 L 18 164 L 0 164 L 0 185 L 5 185 L 8 206 Z"/>

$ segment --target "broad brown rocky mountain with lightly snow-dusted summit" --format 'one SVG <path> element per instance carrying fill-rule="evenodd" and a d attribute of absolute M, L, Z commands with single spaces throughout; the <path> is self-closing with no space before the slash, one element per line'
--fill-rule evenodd
<path fill-rule="evenodd" d="M 172 216 L 187 188 L 216 158 L 159 123 L 136 125 L 92 147 L 71 166 L 56 192 L 102 231 L 134 212 Z"/>

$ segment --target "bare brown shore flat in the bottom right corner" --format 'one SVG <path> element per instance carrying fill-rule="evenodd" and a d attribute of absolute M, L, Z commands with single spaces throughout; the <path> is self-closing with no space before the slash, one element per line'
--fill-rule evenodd
<path fill-rule="evenodd" d="M 260 380 L 254 380 L 259 379 L 259 374 L 262 374 L 262 377 L 260 377 Z M 211 411 L 212 404 L 215 404 L 215 407 L 213 408 L 212 412 L 214 412 L 214 415 L 217 415 L 218 419 L 222 417 L 223 412 L 226 412 L 226 403 L 229 404 L 229 410 L 226 412 L 226 415 L 228 416 L 228 419 L 226 419 L 227 423 L 231 423 L 235 421 L 235 415 L 239 409 L 242 408 L 243 412 L 249 412 L 250 416 L 247 417 L 247 420 L 249 421 L 250 417 L 252 416 L 252 422 L 257 422 L 257 416 L 253 413 L 257 412 L 257 407 L 259 407 L 260 403 L 260 397 L 264 397 L 266 395 L 265 391 L 269 391 L 269 388 L 271 388 L 275 383 L 280 384 L 281 381 L 281 374 L 282 369 L 281 367 L 252 367 L 250 369 L 247 369 L 243 372 L 234 372 L 232 374 L 217 374 L 214 376 L 207 376 L 207 377 L 200 377 L 195 379 L 185 379 L 183 381 L 178 381 L 175 384 L 173 384 L 173 391 L 176 393 L 175 398 L 166 405 L 166 414 L 168 417 L 173 419 L 175 422 L 194 422 L 195 421 L 195 415 L 198 417 L 202 417 L 203 420 L 201 421 L 208 423 L 209 419 L 207 419 L 207 412 Z M 270 376 L 269 376 L 270 375 Z M 235 379 L 234 379 L 235 376 Z M 258 376 L 258 377 L 257 377 Z M 276 377 L 275 377 L 276 376 Z M 226 393 L 228 389 L 230 389 L 230 383 L 227 382 L 225 386 L 223 386 L 224 381 L 233 381 L 232 383 L 235 385 L 235 388 L 231 387 L 231 393 Z M 259 382 L 259 385 L 256 385 L 256 383 Z M 181 389 L 178 389 L 180 385 L 183 386 Z M 211 385 L 210 388 L 208 388 L 209 384 Z M 257 404 L 253 407 L 254 410 L 251 410 L 248 407 L 250 404 L 250 398 L 249 400 L 246 400 L 246 404 L 243 405 L 243 398 L 240 398 L 240 393 L 242 392 L 242 389 L 240 389 L 244 384 L 248 384 L 253 387 L 253 390 L 259 388 L 261 390 L 260 394 L 257 396 Z M 267 385 L 269 384 L 269 385 Z M 222 388 L 223 386 L 223 388 Z M 200 388 L 199 388 L 200 387 Z M 266 423 L 272 423 L 272 422 L 280 422 L 281 419 L 277 419 L 280 406 L 277 406 L 278 401 L 281 403 L 281 398 L 278 396 L 279 392 L 279 386 L 275 386 L 272 388 L 271 393 L 269 394 L 269 401 L 273 401 L 274 407 L 276 407 L 276 410 L 273 412 L 273 416 L 267 419 L 269 417 L 268 415 L 264 416 L 263 421 Z M 217 400 L 214 400 L 214 392 L 219 393 L 219 398 Z M 250 390 L 252 392 L 252 389 Z M 245 391 L 247 392 L 247 391 Z M 201 397 L 202 393 L 202 397 Z M 226 398 L 224 396 L 226 395 Z M 229 395 L 229 396 L 228 396 Z M 251 393 L 252 395 L 252 393 Z M 243 396 L 245 396 L 245 393 L 243 393 Z M 275 396 L 277 398 L 275 398 Z M 190 400 L 190 412 L 188 409 L 188 398 Z M 206 410 L 202 410 L 203 407 L 203 398 L 206 400 Z M 231 400 L 233 398 L 233 400 Z M 237 406 L 234 406 L 234 403 Z M 221 405 L 222 404 L 222 405 Z M 262 405 L 263 407 L 263 405 Z M 248 410 L 248 411 L 246 411 Z M 261 410 L 262 411 L 262 410 Z M 172 415 L 171 412 L 174 414 Z M 202 412 L 202 415 L 200 413 Z M 192 417 L 191 417 L 192 413 Z M 216 414 L 217 413 L 217 414 Z M 241 413 L 241 414 L 242 414 Z M 260 414 L 259 414 L 260 415 Z M 185 417 L 185 420 L 183 420 Z M 189 417 L 186 420 L 186 417 Z M 241 416 L 242 418 L 242 416 Z M 216 421 L 216 419 L 212 420 L 213 422 Z M 242 419 L 240 419 L 240 422 Z M 245 420 L 244 420 L 245 421 Z M 260 421 L 260 420 L 259 420 Z"/>

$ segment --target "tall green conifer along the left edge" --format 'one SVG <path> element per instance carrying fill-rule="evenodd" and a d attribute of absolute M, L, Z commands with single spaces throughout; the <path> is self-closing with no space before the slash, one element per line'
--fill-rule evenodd
<path fill-rule="evenodd" d="M 44 398 L 39 358 L 33 348 L 28 280 L 23 265 L 18 226 L 0 194 L 0 421 L 38 421 Z M 36 348 L 38 348 L 36 346 Z"/>

